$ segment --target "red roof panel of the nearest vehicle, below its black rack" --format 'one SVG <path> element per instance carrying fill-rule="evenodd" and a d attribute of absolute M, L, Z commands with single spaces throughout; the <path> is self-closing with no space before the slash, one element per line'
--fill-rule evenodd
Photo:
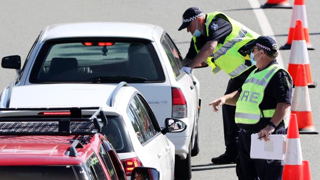
<path fill-rule="evenodd" d="M 99 150 L 102 135 L 91 136 L 90 143 L 76 148 L 78 156 L 66 155 L 75 136 L 0 136 L 0 166 L 79 165 Z"/>

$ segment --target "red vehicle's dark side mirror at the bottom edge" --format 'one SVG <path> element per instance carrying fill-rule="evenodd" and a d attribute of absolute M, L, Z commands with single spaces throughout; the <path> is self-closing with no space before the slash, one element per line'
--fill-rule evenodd
<path fill-rule="evenodd" d="M 131 180 L 160 180 L 160 173 L 155 168 L 136 167 L 132 170 Z"/>

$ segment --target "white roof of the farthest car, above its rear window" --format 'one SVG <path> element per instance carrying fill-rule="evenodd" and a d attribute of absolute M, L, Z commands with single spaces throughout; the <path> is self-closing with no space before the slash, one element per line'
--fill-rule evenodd
<path fill-rule="evenodd" d="M 56 24 L 46 27 L 39 39 L 46 41 L 74 37 L 132 37 L 153 40 L 154 34 L 162 34 L 159 26 L 142 23 L 84 22 Z"/>

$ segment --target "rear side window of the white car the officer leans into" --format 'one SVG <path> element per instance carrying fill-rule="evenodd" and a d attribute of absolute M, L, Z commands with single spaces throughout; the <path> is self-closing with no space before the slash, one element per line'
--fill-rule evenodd
<path fill-rule="evenodd" d="M 167 34 L 164 34 L 162 37 L 161 44 L 170 61 L 175 76 L 178 77 L 180 75 L 180 69 L 182 68 L 179 50 Z"/>

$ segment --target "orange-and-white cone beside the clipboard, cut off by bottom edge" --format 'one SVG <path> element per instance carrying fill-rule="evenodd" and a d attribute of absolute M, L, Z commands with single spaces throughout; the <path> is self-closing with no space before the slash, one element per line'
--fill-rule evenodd
<path fill-rule="evenodd" d="M 284 159 L 283 180 L 303 180 L 302 151 L 295 114 L 290 115 L 286 154 Z"/>

